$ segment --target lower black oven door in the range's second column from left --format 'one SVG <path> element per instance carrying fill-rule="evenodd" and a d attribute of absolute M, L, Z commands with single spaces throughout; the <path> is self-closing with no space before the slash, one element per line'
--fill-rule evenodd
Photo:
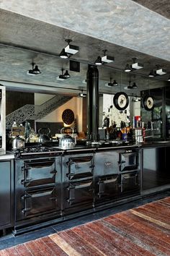
<path fill-rule="evenodd" d="M 65 189 L 65 208 L 76 207 L 93 202 L 93 180 L 71 182 Z"/>

